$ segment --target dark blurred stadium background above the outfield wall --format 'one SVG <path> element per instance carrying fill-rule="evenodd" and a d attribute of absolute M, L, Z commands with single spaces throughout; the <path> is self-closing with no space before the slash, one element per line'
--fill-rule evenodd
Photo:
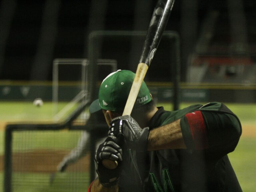
<path fill-rule="evenodd" d="M 88 57 L 87 37 L 91 31 L 146 31 L 155 3 L 156 0 L 1 0 L 0 80 L 51 81 L 53 59 Z M 246 34 L 248 47 L 244 50 L 230 48 L 230 18 L 236 13 L 228 10 L 234 3 L 241 3 L 244 13 L 245 22 L 236 24 Z M 213 10 L 218 17 L 210 48 L 204 54 L 249 55 L 255 62 L 255 0 L 176 0 L 166 30 L 180 35 L 182 81 L 186 81 L 188 57 L 195 51 L 202 23 Z M 165 46 L 164 41 L 159 46 Z M 118 68 L 136 70 L 141 46 L 133 56 L 129 55 L 128 43 L 103 42 L 103 47 L 124 55 L 119 58 Z M 156 57 L 163 53 L 164 49 Z M 165 67 L 152 65 L 148 76 L 154 76 L 152 80 L 170 81 L 169 69 Z"/>

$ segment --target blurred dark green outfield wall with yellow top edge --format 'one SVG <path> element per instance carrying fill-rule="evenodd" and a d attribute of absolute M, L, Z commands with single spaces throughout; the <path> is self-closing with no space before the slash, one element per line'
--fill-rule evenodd
<path fill-rule="evenodd" d="M 166 83 L 149 83 L 149 89 L 157 102 L 169 102 L 173 97 L 173 87 Z M 59 86 L 58 101 L 70 101 L 81 87 L 74 85 Z M 256 86 L 241 85 L 199 85 L 180 86 L 181 102 L 236 102 L 255 103 Z M 98 92 L 98 88 L 96 89 Z M 0 85 L 0 101 L 33 101 L 35 98 L 52 101 L 52 85 Z"/>

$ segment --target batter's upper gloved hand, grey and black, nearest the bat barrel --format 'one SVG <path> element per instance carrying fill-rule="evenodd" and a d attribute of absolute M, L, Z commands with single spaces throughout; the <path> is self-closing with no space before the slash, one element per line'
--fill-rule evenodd
<path fill-rule="evenodd" d="M 148 143 L 149 128 L 142 129 L 130 116 L 124 115 L 114 118 L 111 122 L 109 135 L 124 138 L 125 145 L 136 151 L 146 151 Z"/>

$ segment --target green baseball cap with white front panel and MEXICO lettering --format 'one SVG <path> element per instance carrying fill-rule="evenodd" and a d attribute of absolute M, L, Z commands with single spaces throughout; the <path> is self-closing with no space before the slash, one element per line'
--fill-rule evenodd
<path fill-rule="evenodd" d="M 94 113 L 101 109 L 110 111 L 123 111 L 130 93 L 135 73 L 128 70 L 117 70 L 110 73 L 101 83 L 99 99 L 93 101 L 89 112 Z M 134 107 L 144 105 L 151 101 L 149 89 L 143 81 L 135 101 Z"/>

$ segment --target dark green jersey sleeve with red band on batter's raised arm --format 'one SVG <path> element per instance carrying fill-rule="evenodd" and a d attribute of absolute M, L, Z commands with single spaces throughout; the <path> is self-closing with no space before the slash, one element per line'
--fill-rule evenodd
<path fill-rule="evenodd" d="M 222 103 L 210 103 L 185 114 L 181 131 L 188 149 L 233 151 L 242 133 L 239 119 Z"/>

